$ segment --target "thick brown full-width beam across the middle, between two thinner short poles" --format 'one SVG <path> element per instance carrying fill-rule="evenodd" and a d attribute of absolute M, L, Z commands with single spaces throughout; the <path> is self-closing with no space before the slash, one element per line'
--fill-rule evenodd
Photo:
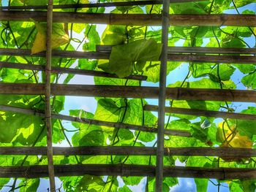
<path fill-rule="evenodd" d="M 42 95 L 44 84 L 0 83 L 0 94 Z M 113 85 L 61 85 L 52 84 L 53 96 L 99 96 L 113 98 L 157 99 L 159 88 Z M 211 88 L 167 88 L 166 99 L 197 101 L 255 102 L 256 91 L 211 89 Z"/>

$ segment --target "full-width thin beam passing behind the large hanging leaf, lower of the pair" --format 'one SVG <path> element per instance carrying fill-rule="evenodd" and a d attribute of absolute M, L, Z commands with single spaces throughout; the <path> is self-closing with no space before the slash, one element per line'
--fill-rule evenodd
<path fill-rule="evenodd" d="M 247 49 L 244 49 L 244 50 L 246 52 Z M 178 51 L 180 51 L 180 50 L 178 49 Z M 252 53 L 253 51 L 254 50 L 249 50 L 246 53 Z M 199 50 L 198 50 L 198 52 L 199 52 Z M 212 50 L 212 52 L 214 52 L 214 50 Z M 233 50 L 233 52 L 236 52 L 236 50 Z M 187 53 L 189 53 L 189 52 L 187 51 Z M 241 53 L 241 54 L 244 54 L 244 53 Z M 3 48 L 0 48 L 0 55 L 45 57 L 44 52 L 31 55 L 31 50 L 3 49 Z M 102 51 L 84 52 L 84 51 L 53 50 L 53 57 L 55 57 L 55 58 L 109 59 L 110 52 L 102 52 Z M 198 63 L 206 62 L 206 63 L 220 63 L 220 64 L 221 63 L 254 64 L 254 63 L 256 63 L 256 57 L 252 56 L 252 55 L 188 55 L 188 54 L 168 53 L 168 61 L 188 61 L 188 62 L 198 62 Z"/>

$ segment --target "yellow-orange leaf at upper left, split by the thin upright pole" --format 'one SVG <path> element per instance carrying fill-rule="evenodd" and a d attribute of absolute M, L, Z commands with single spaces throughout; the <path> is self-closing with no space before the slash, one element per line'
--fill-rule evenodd
<path fill-rule="evenodd" d="M 34 39 L 31 54 L 39 53 L 46 50 L 46 24 L 36 23 L 37 37 Z M 53 23 L 52 31 L 52 49 L 65 45 L 69 42 L 69 35 L 64 30 L 62 23 Z"/>

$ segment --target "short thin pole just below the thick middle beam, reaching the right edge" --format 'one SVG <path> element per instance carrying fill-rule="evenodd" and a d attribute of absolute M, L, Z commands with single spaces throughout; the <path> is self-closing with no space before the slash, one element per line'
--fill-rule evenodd
<path fill-rule="evenodd" d="M 144 110 L 147 111 L 157 111 L 157 105 L 146 104 Z M 182 114 L 182 115 L 195 115 L 195 116 L 204 116 L 204 117 L 213 117 L 213 118 L 230 118 L 230 119 L 242 119 L 242 120 L 256 120 L 256 115 L 244 114 L 237 112 L 219 112 L 219 111 L 209 111 L 209 110 L 195 110 L 195 109 L 185 109 L 177 107 L 165 107 L 165 112 L 173 114 Z"/>

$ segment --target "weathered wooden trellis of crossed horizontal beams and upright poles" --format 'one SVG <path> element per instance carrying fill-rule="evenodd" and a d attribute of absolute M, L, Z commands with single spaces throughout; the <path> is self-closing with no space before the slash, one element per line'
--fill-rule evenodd
<path fill-rule="evenodd" d="M 48 128 L 48 147 L 1 147 L 0 155 L 48 155 L 48 166 L 7 166 L 0 167 L 0 177 L 50 177 L 50 190 L 55 191 L 54 176 L 77 176 L 83 174 L 94 175 L 121 175 L 121 176 L 151 176 L 157 177 L 156 190 L 162 191 L 162 177 L 200 177 L 225 179 L 252 179 L 256 178 L 256 169 L 227 169 L 227 168 L 200 168 L 200 167 L 167 167 L 163 166 L 164 155 L 209 155 L 222 157 L 252 157 L 256 156 L 256 150 L 229 148 L 229 147 L 183 147 L 164 148 L 164 134 L 191 137 L 188 131 L 167 130 L 164 128 L 165 112 L 173 114 L 186 114 L 197 116 L 208 116 L 215 118 L 235 118 L 244 120 L 256 120 L 256 115 L 239 114 L 235 112 L 214 112 L 206 110 L 188 110 L 181 108 L 165 107 L 165 99 L 187 99 L 201 101 L 256 101 L 255 91 L 220 90 L 220 89 L 193 89 L 193 88 L 166 88 L 166 63 L 168 61 L 196 61 L 214 63 L 256 63 L 256 49 L 252 48 L 204 48 L 204 47 L 167 47 L 167 26 L 256 26 L 255 15 L 169 15 L 169 2 L 186 1 L 163 1 L 164 11 L 162 15 L 116 15 L 116 14 L 94 14 L 94 13 L 72 13 L 53 12 L 59 8 L 81 8 L 81 7 L 111 7 L 131 6 L 144 4 L 162 4 L 162 1 L 131 1 L 102 4 L 72 4 L 53 5 L 49 1 L 47 6 L 27 7 L 1 7 L 0 20 L 2 21 L 47 21 L 48 23 L 48 51 L 31 55 L 31 50 L 0 49 L 1 55 L 30 55 L 47 58 L 47 66 L 32 64 L 16 64 L 0 62 L 0 67 L 12 69 L 29 69 L 44 71 L 46 81 L 44 84 L 28 83 L 1 83 L 1 94 L 20 95 L 45 95 L 45 112 L 27 110 L 18 107 L 0 106 L 0 110 L 21 112 L 28 115 L 45 117 Z M 48 12 L 26 11 L 26 9 L 47 9 Z M 15 10 L 15 11 L 14 11 Z M 54 85 L 50 84 L 51 73 L 86 74 L 97 77 L 114 77 L 116 74 L 97 72 L 83 69 L 67 69 L 51 67 L 51 57 L 57 58 L 95 58 L 108 59 L 110 46 L 98 46 L 96 52 L 78 51 L 51 51 L 51 26 L 53 23 L 104 23 L 110 25 L 153 25 L 160 26 L 162 23 L 162 69 L 160 76 L 160 88 L 129 87 L 129 86 L 107 86 L 107 85 Z M 214 55 L 222 54 L 222 55 Z M 236 55 L 230 55 L 236 54 Z M 146 80 L 143 75 L 130 75 L 125 77 L 129 80 Z M 159 98 L 159 107 L 146 105 L 144 110 L 158 111 L 158 127 L 135 126 L 127 123 L 110 123 L 100 120 L 76 118 L 67 115 L 53 114 L 50 112 L 50 95 L 63 96 L 102 96 L 118 98 Z M 79 123 L 89 123 L 99 126 L 110 126 L 113 128 L 127 128 L 147 132 L 158 132 L 158 143 L 156 147 L 52 147 L 51 141 L 51 118 L 69 120 Z M 155 166 L 142 165 L 54 165 L 53 155 L 157 155 L 157 168 Z"/>

